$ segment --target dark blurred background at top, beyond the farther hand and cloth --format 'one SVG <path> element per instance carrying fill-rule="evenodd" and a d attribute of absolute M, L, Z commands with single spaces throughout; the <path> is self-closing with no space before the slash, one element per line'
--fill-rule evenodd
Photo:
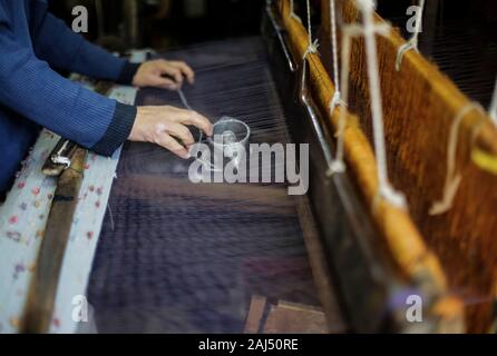
<path fill-rule="evenodd" d="M 107 47 L 172 47 L 259 33 L 265 0 L 57 0 L 51 11 L 68 24 L 71 10 L 89 11 L 86 37 Z"/>

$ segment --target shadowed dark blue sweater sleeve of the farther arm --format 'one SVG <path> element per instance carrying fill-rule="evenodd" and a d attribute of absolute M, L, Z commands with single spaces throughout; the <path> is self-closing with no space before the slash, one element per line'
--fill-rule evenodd
<path fill-rule="evenodd" d="M 139 65 L 129 63 L 88 42 L 48 11 L 38 17 L 33 44 L 40 59 L 57 69 L 123 85 L 131 83 Z"/>

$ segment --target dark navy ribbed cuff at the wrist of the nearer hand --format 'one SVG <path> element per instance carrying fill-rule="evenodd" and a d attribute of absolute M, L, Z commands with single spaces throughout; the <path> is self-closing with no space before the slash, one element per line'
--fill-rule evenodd
<path fill-rule="evenodd" d="M 117 102 L 113 120 L 107 131 L 91 150 L 101 156 L 113 156 L 128 139 L 133 125 L 135 123 L 136 113 L 136 107 Z"/>

